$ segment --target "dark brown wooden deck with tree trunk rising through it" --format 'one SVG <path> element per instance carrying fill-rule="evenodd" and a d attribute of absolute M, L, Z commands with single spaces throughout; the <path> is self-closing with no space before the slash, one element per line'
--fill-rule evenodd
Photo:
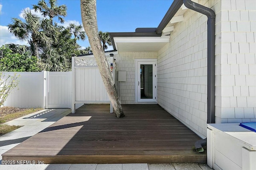
<path fill-rule="evenodd" d="M 193 150 L 200 138 L 158 105 L 84 105 L 5 152 L 3 160 L 52 163 L 206 162 Z"/>

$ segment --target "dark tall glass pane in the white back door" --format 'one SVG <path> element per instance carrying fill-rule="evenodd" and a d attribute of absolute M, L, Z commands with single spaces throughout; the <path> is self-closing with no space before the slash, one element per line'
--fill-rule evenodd
<path fill-rule="evenodd" d="M 140 98 L 153 99 L 152 64 L 140 64 Z"/>

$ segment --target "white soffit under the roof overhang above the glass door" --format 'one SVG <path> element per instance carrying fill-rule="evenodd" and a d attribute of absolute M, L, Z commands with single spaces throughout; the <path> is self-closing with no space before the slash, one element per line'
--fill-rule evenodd
<path fill-rule="evenodd" d="M 170 36 L 162 37 L 114 37 L 118 52 L 158 52 L 169 42 Z"/>

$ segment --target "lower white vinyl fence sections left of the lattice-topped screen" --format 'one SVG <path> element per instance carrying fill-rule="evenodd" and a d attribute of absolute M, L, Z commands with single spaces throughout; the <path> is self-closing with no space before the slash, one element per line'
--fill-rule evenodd
<path fill-rule="evenodd" d="M 18 75 L 18 86 L 4 106 L 23 108 L 70 108 L 71 72 L 4 72 Z"/>

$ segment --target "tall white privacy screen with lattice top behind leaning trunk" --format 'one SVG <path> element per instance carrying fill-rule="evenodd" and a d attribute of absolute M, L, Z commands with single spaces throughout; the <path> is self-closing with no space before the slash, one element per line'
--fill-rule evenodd
<path fill-rule="evenodd" d="M 113 57 L 107 57 L 109 66 L 113 67 Z M 113 74 L 114 75 L 114 74 Z M 114 78 L 114 77 L 113 77 Z M 72 57 L 72 113 L 75 113 L 76 104 L 80 103 L 110 103 L 106 88 L 103 84 L 100 72 L 92 57 Z M 110 112 L 113 112 L 113 107 L 110 106 Z"/>

